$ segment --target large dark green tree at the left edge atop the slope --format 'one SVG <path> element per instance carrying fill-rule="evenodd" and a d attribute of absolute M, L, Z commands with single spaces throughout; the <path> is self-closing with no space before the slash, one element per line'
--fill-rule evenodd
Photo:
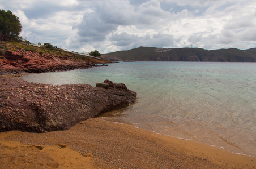
<path fill-rule="evenodd" d="M 22 31 L 19 17 L 12 14 L 10 10 L 0 10 L 0 33 L 10 35 L 12 38 L 19 39 Z"/>

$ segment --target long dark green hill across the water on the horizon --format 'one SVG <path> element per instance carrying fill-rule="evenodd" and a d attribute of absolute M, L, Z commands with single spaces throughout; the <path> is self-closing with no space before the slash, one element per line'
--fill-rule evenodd
<path fill-rule="evenodd" d="M 255 62 L 256 48 L 205 50 L 203 48 L 156 48 L 139 47 L 127 51 L 103 54 L 113 61 L 234 61 Z"/>

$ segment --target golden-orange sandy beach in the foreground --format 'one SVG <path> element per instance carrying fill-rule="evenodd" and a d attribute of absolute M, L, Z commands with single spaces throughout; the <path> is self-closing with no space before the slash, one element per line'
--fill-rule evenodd
<path fill-rule="evenodd" d="M 0 133 L 0 168 L 256 168 L 256 158 L 100 118 Z"/>

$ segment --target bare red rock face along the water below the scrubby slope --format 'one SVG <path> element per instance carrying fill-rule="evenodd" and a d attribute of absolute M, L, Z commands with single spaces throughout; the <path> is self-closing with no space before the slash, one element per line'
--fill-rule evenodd
<path fill-rule="evenodd" d="M 23 50 L 7 50 L 0 57 L 0 74 L 42 73 L 86 69 L 93 66 L 99 65 L 63 55 L 40 54 Z"/>

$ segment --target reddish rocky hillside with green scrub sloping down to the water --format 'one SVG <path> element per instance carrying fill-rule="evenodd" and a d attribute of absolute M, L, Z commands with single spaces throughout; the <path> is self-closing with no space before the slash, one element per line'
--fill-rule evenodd
<path fill-rule="evenodd" d="M 0 41 L 0 75 L 84 69 L 99 66 L 95 63 L 110 62 L 112 61 L 63 51 L 59 48 Z"/>

